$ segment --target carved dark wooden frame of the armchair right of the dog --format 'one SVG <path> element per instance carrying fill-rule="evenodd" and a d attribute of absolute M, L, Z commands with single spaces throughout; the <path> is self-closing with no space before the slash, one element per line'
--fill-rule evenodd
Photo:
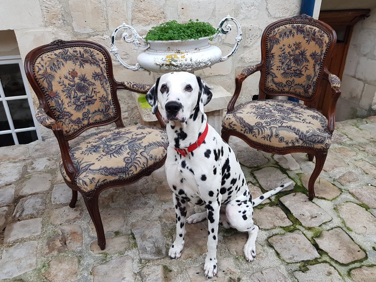
<path fill-rule="evenodd" d="M 302 98 L 295 96 L 293 94 L 288 94 L 288 93 L 273 93 L 269 92 L 267 89 L 265 89 L 264 81 L 265 81 L 265 66 L 267 62 L 267 50 L 266 50 L 266 36 L 268 32 L 273 29 L 276 26 L 279 26 L 281 24 L 289 24 L 289 23 L 308 23 L 312 24 L 315 26 L 320 27 L 321 29 L 326 30 L 330 37 L 331 37 L 331 44 L 329 48 L 327 49 L 327 54 L 325 57 L 325 60 L 323 62 L 321 74 L 318 77 L 317 80 L 317 86 L 315 88 L 315 92 L 312 95 L 311 98 Z M 271 23 L 269 26 L 266 27 L 264 32 L 262 33 L 262 38 L 261 38 L 261 63 L 257 65 L 251 65 L 247 68 L 244 68 L 243 71 L 241 72 L 240 75 L 238 75 L 235 78 L 235 92 L 227 106 L 227 112 L 231 113 L 234 110 L 235 103 L 239 97 L 242 83 L 243 81 L 250 76 L 251 74 L 255 73 L 256 71 L 261 72 L 261 77 L 259 80 L 259 96 L 258 100 L 261 99 L 267 99 L 267 97 L 270 96 L 290 96 L 294 97 L 300 100 L 304 101 L 304 104 L 308 106 L 309 108 L 314 108 L 317 109 L 319 112 L 321 112 L 328 120 L 327 124 L 327 129 L 329 130 L 330 133 L 333 133 L 334 127 L 335 127 L 335 107 L 337 105 L 337 100 L 341 95 L 341 90 L 340 90 L 340 79 L 335 76 L 334 74 L 331 74 L 327 70 L 327 66 L 329 65 L 329 61 L 331 59 L 331 55 L 333 52 L 333 49 L 335 47 L 335 42 L 337 40 L 337 35 L 335 34 L 334 30 L 328 26 L 326 23 L 323 23 L 322 21 L 315 20 L 312 17 L 309 17 L 305 14 L 299 15 L 297 17 L 293 18 L 286 18 L 283 20 L 276 21 L 274 23 Z M 319 106 L 318 103 L 318 91 L 320 91 L 322 84 L 324 83 L 324 80 L 329 82 L 331 86 L 331 99 L 328 105 L 323 105 L 322 107 Z M 313 158 L 316 158 L 316 164 L 315 168 L 312 172 L 311 177 L 309 178 L 309 183 L 308 183 L 308 194 L 309 194 L 309 200 L 312 200 L 315 197 L 315 192 L 314 192 L 314 183 L 315 180 L 317 179 L 318 175 L 320 174 L 324 162 L 327 156 L 327 150 L 315 150 L 311 148 L 287 148 L 287 149 L 277 149 L 274 147 L 268 147 L 268 146 L 260 146 L 259 144 L 254 144 L 250 142 L 247 137 L 235 130 L 230 130 L 226 128 L 222 128 L 222 138 L 224 141 L 228 143 L 230 136 L 237 136 L 240 139 L 243 139 L 250 147 L 253 147 L 255 149 L 272 153 L 272 154 L 277 154 L 277 155 L 286 155 L 289 153 L 307 153 L 308 154 L 308 159 L 309 161 L 313 161 Z"/>

